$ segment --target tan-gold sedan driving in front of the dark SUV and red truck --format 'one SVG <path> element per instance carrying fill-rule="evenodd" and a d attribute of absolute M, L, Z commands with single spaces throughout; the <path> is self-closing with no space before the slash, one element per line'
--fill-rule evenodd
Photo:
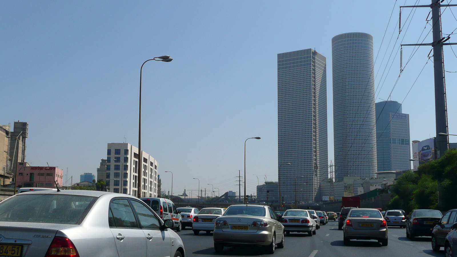
<path fill-rule="evenodd" d="M 351 239 L 377 240 L 383 246 L 388 243 L 386 220 L 377 209 L 351 209 L 343 222 L 343 242 L 348 245 Z"/>

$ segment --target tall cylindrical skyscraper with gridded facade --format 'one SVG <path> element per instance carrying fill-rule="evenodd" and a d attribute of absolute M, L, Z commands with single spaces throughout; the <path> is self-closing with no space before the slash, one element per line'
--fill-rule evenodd
<path fill-rule="evenodd" d="M 373 37 L 351 32 L 332 38 L 335 179 L 375 177 L 376 121 Z"/>

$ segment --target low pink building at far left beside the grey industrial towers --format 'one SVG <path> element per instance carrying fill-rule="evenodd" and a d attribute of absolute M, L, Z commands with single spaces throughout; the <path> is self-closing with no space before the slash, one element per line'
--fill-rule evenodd
<path fill-rule="evenodd" d="M 16 187 L 55 188 L 54 181 L 62 186 L 64 171 L 58 167 L 28 166 L 27 162 L 17 163 Z"/>

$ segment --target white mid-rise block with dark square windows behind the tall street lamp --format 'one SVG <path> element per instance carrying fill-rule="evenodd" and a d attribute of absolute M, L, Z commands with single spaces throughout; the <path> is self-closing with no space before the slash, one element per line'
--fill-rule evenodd
<path fill-rule="evenodd" d="M 143 152 L 142 166 L 138 164 L 138 148 L 128 143 L 108 143 L 106 171 L 99 169 L 97 179 L 106 182 L 109 192 L 138 195 L 138 177 L 141 177 L 141 196 L 157 197 L 158 162 Z M 141 176 L 138 170 L 141 169 Z"/>

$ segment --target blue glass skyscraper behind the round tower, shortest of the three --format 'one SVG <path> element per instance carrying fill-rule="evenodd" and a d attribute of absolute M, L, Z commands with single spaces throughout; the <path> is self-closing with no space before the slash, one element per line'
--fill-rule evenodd
<path fill-rule="evenodd" d="M 401 103 L 377 102 L 376 147 L 377 171 L 411 169 L 409 114 L 402 113 Z"/>

